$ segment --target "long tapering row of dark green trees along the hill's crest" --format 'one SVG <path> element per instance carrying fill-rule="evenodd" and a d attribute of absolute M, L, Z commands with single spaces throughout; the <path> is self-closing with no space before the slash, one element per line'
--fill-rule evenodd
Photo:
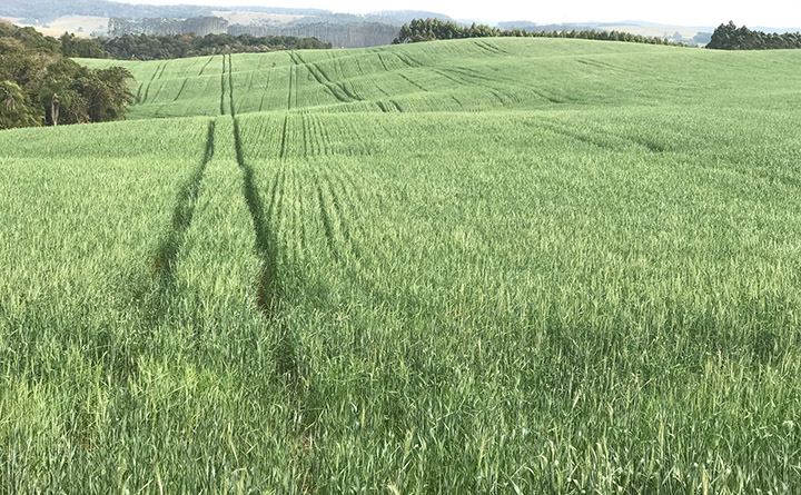
<path fill-rule="evenodd" d="M 413 19 L 403 24 L 394 44 L 416 43 L 421 41 L 455 40 L 463 38 L 518 37 L 518 38 L 576 38 L 584 40 L 626 41 L 633 43 L 685 46 L 662 38 L 632 34 L 620 31 L 571 30 L 571 31 L 530 31 L 524 29 L 504 30 L 486 24 L 459 26 L 453 21 L 439 19 Z"/>

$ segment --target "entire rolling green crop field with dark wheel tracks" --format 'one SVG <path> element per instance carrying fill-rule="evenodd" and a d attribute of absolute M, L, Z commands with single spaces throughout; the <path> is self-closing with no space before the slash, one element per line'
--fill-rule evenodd
<path fill-rule="evenodd" d="M 129 121 L 0 133 L 0 484 L 795 493 L 800 62 L 123 62 Z"/>

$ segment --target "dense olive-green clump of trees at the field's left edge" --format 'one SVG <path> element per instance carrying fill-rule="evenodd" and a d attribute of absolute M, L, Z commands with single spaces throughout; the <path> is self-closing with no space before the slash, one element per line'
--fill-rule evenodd
<path fill-rule="evenodd" d="M 0 129 L 123 119 L 130 78 L 121 67 L 79 66 L 61 41 L 0 22 Z"/>

